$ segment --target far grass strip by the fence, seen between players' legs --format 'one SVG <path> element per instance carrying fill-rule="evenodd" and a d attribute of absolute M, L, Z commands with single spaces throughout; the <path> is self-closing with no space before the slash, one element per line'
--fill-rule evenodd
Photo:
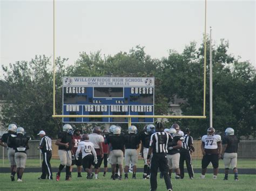
<path fill-rule="evenodd" d="M 238 159 L 238 168 L 256 168 L 256 162 L 255 159 Z M 185 162 L 184 162 L 185 164 Z M 201 160 L 193 160 L 192 161 L 193 168 L 201 168 Z M 143 168 L 144 161 L 138 160 L 138 168 Z M 52 167 L 58 167 L 59 166 L 59 160 L 58 159 L 52 159 L 51 160 L 51 166 Z M 185 165 L 186 166 L 186 165 Z M 9 167 L 8 159 L 4 160 L 4 166 L 3 166 L 3 160 L 0 159 L 0 167 Z M 26 167 L 39 167 L 39 159 L 28 159 L 26 160 Z M 224 168 L 223 160 L 219 161 L 219 168 Z"/>

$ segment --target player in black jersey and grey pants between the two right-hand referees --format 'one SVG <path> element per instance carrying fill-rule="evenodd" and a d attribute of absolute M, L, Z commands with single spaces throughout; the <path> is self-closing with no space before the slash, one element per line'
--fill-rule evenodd
<path fill-rule="evenodd" d="M 180 179 L 180 169 L 179 169 L 179 158 L 180 158 L 180 148 L 182 146 L 183 137 L 177 134 L 176 129 L 169 129 L 169 133 L 172 136 L 172 142 L 169 142 L 167 160 L 169 166 L 169 175 L 172 175 L 172 169 L 176 172 L 176 179 Z"/>

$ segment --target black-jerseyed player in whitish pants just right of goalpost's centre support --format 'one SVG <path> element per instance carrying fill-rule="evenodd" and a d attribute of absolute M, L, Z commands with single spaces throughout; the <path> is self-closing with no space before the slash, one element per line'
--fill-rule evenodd
<path fill-rule="evenodd" d="M 136 179 L 137 172 L 137 162 L 139 148 L 139 136 L 137 135 L 137 128 L 134 125 L 129 126 L 128 134 L 125 135 L 125 179 L 128 179 L 128 171 L 130 166 L 130 161 L 132 162 L 132 179 Z"/>

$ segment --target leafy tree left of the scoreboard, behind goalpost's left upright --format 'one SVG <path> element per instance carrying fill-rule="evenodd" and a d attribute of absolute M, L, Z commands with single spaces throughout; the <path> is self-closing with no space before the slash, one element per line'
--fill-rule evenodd
<path fill-rule="evenodd" d="M 66 59 L 56 59 L 56 112 L 61 113 L 62 84 L 65 75 Z M 10 63 L 9 68 L 3 67 L 4 82 L 8 84 L 8 94 L 2 110 L 2 123 L 8 126 L 16 123 L 22 126 L 32 137 L 39 130 L 56 137 L 61 126 L 60 119 L 52 118 L 52 69 L 50 58 L 35 56 L 30 62 L 17 61 Z"/>

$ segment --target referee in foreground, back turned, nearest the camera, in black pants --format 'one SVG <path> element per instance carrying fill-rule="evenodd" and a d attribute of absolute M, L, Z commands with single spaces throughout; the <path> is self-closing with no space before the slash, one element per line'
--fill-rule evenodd
<path fill-rule="evenodd" d="M 156 124 L 156 133 L 153 133 L 150 139 L 149 153 L 147 154 L 147 164 L 150 165 L 150 190 L 157 190 L 157 171 L 158 168 L 164 176 L 167 190 L 172 191 L 172 182 L 168 174 L 167 165 L 167 145 L 172 140 L 171 135 L 164 132 L 164 126 L 158 122 Z"/>

